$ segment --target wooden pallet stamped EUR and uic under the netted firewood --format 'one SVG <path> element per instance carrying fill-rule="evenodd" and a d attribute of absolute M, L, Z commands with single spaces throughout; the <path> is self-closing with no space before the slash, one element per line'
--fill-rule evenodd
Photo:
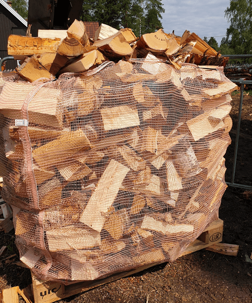
<path fill-rule="evenodd" d="M 197 240 L 192 242 L 186 250 L 183 252 L 181 256 L 191 254 L 191 252 L 206 248 L 215 243 L 219 243 L 222 241 L 222 232 L 223 232 L 223 221 L 218 219 L 212 222 L 205 231 L 198 237 Z M 181 257 L 180 256 L 180 257 Z M 29 297 L 30 302 L 33 303 L 52 303 L 62 298 L 69 297 L 74 294 L 78 294 L 97 286 L 136 274 L 141 272 L 147 268 L 158 265 L 162 262 L 152 263 L 143 267 L 140 267 L 135 270 L 130 270 L 127 272 L 122 272 L 118 274 L 114 274 L 110 277 L 88 281 L 88 282 L 78 282 L 71 285 L 64 285 L 58 282 L 48 282 L 41 281 L 36 279 L 32 275 L 32 284 L 24 289 L 24 292 L 27 297 Z"/>

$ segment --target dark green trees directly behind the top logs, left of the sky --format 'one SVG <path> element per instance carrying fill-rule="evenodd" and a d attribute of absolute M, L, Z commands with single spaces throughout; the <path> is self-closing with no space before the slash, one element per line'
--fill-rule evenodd
<path fill-rule="evenodd" d="M 161 0 L 84 0 L 81 20 L 98 21 L 113 28 L 128 27 L 136 36 L 162 28 Z"/>

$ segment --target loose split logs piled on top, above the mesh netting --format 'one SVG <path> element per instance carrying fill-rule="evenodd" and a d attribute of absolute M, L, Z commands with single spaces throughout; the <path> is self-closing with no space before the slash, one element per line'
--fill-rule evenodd
<path fill-rule="evenodd" d="M 39 34 L 40 37 L 35 38 L 11 35 L 8 40 L 8 54 L 23 60 L 17 73 L 30 82 L 54 79 L 55 75 L 66 72 L 84 72 L 108 60 L 153 56 L 169 61 L 176 69 L 184 62 L 225 66 L 228 61 L 187 30 L 181 38 L 160 29 L 139 39 L 129 28 L 118 31 L 101 24 L 92 40 L 86 34 L 84 23 L 75 20 L 67 32 L 58 31 L 57 35 L 55 30 L 43 30 Z"/>

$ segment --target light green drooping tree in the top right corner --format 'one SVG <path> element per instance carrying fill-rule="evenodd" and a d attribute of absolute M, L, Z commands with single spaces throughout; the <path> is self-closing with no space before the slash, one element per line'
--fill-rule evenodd
<path fill-rule="evenodd" d="M 231 0 L 225 17 L 230 22 L 225 47 L 234 54 L 252 54 L 252 0 Z"/>

